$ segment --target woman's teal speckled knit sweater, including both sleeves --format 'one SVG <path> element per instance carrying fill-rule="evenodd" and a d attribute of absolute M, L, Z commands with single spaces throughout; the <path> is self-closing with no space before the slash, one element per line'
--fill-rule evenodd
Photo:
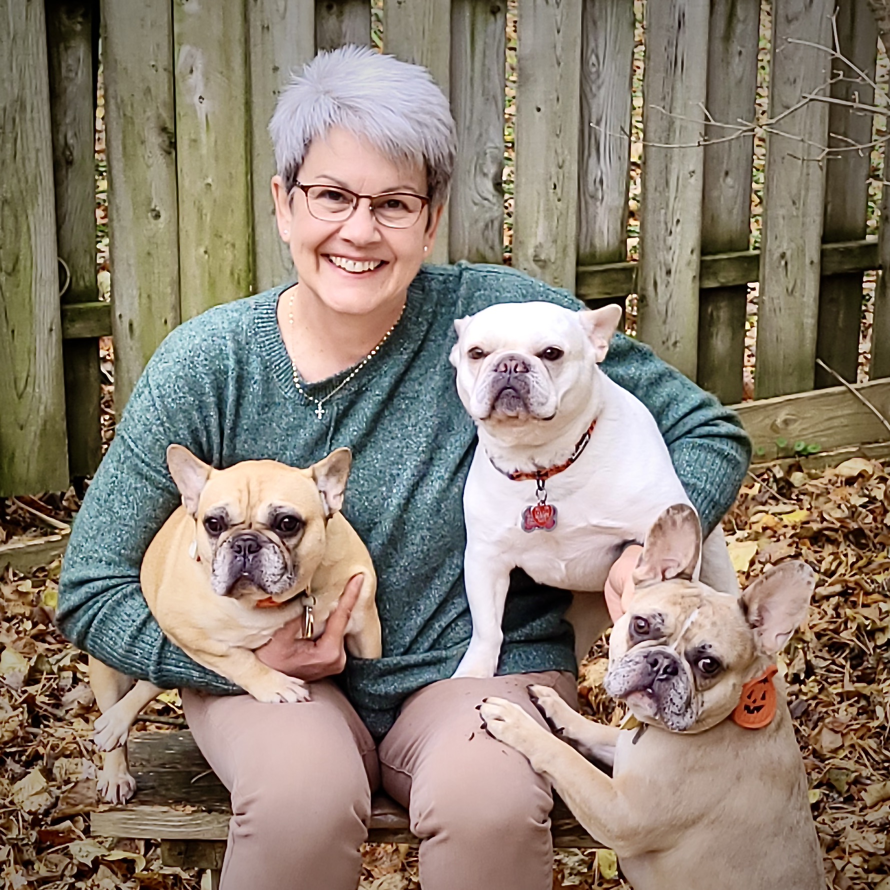
<path fill-rule="evenodd" d="M 291 376 L 276 320 L 282 289 L 217 306 L 158 348 L 77 515 L 56 620 L 73 643 L 125 674 L 164 687 L 238 692 L 170 643 L 142 597 L 142 555 L 180 501 L 166 447 L 181 442 L 225 467 L 261 457 L 306 466 L 346 445 L 353 464 L 344 514 L 376 566 L 384 654 L 349 659 L 342 680 L 379 736 L 411 692 L 451 675 L 470 639 L 462 492 L 475 428 L 448 360 L 453 321 L 491 303 L 581 303 L 503 267 L 425 267 L 392 336 L 325 403 L 319 420 Z M 651 410 L 711 530 L 748 466 L 738 419 L 626 336 L 614 337 L 603 370 Z M 306 390 L 320 398 L 347 374 Z M 501 673 L 575 670 L 571 628 L 562 619 L 567 603 L 567 594 L 543 594 L 514 573 Z"/>

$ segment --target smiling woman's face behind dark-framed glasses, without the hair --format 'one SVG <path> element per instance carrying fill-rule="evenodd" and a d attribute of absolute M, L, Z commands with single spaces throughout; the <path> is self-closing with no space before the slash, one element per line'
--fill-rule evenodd
<path fill-rule="evenodd" d="M 362 195 L 389 191 L 426 194 L 422 165 L 395 164 L 368 142 L 340 128 L 312 142 L 299 180 L 304 185 L 333 185 Z M 288 200 L 279 176 L 272 179 L 279 234 L 290 246 L 299 289 L 334 312 L 365 315 L 401 306 L 408 286 L 432 249 L 441 208 L 427 225 L 426 207 L 408 229 L 389 229 L 376 222 L 368 200 L 362 199 L 349 219 L 325 223 L 315 219 L 302 190 Z M 368 271 L 347 271 L 346 261 L 376 263 Z"/>

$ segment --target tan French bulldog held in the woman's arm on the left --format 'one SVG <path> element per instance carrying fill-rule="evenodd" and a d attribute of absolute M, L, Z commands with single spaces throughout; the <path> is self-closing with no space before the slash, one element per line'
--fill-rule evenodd
<path fill-rule="evenodd" d="M 142 593 L 164 633 L 190 658 L 263 702 L 305 701 L 309 687 L 255 655 L 288 621 L 303 616 L 303 636 L 317 637 L 344 587 L 362 576 L 346 627 L 347 651 L 381 655 L 376 575 L 343 506 L 349 449 L 306 470 L 253 460 L 214 470 L 182 445 L 167 465 L 182 506 L 164 523 L 142 561 Z M 99 790 L 124 803 L 135 790 L 125 742 L 135 717 L 162 690 L 133 685 L 97 659 L 90 684 L 102 715 L 94 739 L 105 756 Z M 131 688 L 132 686 L 132 688 Z"/>

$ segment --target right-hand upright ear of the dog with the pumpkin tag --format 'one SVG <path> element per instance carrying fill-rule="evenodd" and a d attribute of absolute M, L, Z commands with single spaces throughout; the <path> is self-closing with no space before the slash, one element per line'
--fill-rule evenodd
<path fill-rule="evenodd" d="M 816 573 L 805 562 L 782 562 L 748 585 L 740 604 L 757 649 L 775 655 L 806 618 Z"/>

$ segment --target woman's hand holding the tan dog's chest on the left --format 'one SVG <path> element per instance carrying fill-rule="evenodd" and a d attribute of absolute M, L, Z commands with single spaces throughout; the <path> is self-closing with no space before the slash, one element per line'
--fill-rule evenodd
<path fill-rule="evenodd" d="M 352 609 L 361 593 L 362 575 L 353 575 L 346 583 L 336 609 L 328 617 L 325 631 L 317 640 L 303 640 L 303 616 L 288 621 L 271 640 L 256 650 L 263 664 L 287 676 L 308 683 L 334 676 L 346 666 L 344 634 Z"/>

